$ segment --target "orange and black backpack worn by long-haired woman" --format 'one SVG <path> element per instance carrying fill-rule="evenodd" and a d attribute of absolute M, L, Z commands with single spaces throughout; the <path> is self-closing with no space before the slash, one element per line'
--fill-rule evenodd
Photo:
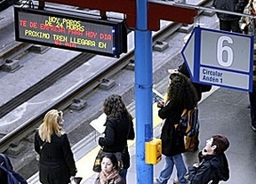
<path fill-rule="evenodd" d="M 191 110 L 185 108 L 180 116 L 180 122 L 177 124 L 176 130 L 185 136 L 194 136 L 199 130 L 198 108 Z"/>

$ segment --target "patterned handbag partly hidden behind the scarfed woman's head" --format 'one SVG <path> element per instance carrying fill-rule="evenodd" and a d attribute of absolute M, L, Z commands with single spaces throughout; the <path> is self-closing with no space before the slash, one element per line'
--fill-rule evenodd
<path fill-rule="evenodd" d="M 108 154 L 108 153 L 104 152 L 103 148 L 100 148 L 100 150 L 99 150 L 99 152 L 98 152 L 98 154 L 95 158 L 93 167 L 92 167 L 93 172 L 101 172 L 100 159 L 103 156 L 105 156 L 105 154 Z M 112 154 L 115 154 L 116 159 L 117 159 L 117 163 L 118 163 L 119 172 L 122 172 L 122 170 L 124 168 L 124 162 L 123 162 L 124 153 L 123 152 L 116 152 L 116 153 L 112 153 Z"/>

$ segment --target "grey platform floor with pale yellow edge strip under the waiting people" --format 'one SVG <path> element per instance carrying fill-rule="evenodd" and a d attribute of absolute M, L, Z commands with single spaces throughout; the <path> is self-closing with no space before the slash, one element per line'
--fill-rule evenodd
<path fill-rule="evenodd" d="M 247 92 L 230 90 L 227 88 L 214 87 L 212 92 L 204 93 L 204 98 L 199 103 L 199 119 L 200 119 L 200 145 L 199 150 L 204 148 L 205 140 L 210 138 L 212 134 L 223 134 L 228 137 L 230 147 L 226 154 L 230 169 L 230 179 L 227 184 L 254 184 L 256 180 L 256 133 L 250 127 L 250 116 L 248 108 Z M 159 124 L 161 120 L 157 117 L 157 108 L 154 107 L 154 137 L 159 136 Z M 136 118 L 136 117 L 135 117 Z M 82 176 L 83 184 L 92 184 L 98 173 L 92 172 L 92 164 L 95 156 L 100 149 L 97 146 L 98 136 L 95 132 L 84 140 L 81 140 L 73 147 L 76 153 L 76 176 Z M 90 151 L 88 151 L 90 150 Z M 129 141 L 129 151 L 131 154 L 131 168 L 127 173 L 127 183 L 137 183 L 136 171 L 136 142 Z M 198 150 L 198 151 L 199 151 Z M 197 162 L 197 153 L 184 153 L 184 160 L 187 165 Z M 153 166 L 154 178 L 156 178 L 164 166 L 164 156 L 162 161 Z M 171 184 L 176 177 L 175 169 L 172 172 Z M 34 178 L 34 179 L 33 179 Z M 39 183 L 38 175 L 34 175 L 28 180 L 29 184 Z M 152 181 L 153 183 L 153 181 Z"/>

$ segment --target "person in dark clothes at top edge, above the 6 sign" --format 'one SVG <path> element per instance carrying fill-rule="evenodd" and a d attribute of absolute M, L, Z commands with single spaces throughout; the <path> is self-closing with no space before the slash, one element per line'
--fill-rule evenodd
<path fill-rule="evenodd" d="M 243 13 L 246 4 L 248 4 L 248 0 L 213 0 L 213 6 L 216 9 L 228 12 Z M 241 16 L 217 12 L 217 17 L 220 20 L 220 30 L 241 33 L 238 23 Z"/>

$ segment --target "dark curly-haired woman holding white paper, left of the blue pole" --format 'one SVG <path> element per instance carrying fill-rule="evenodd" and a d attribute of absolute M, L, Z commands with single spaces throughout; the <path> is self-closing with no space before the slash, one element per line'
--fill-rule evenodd
<path fill-rule="evenodd" d="M 121 176 L 126 182 L 127 169 L 130 167 L 130 155 L 127 140 L 135 137 L 132 115 L 124 105 L 122 97 L 117 94 L 110 95 L 103 104 L 103 111 L 107 115 L 105 137 L 99 139 L 99 145 L 105 153 L 123 152 L 123 170 Z"/>

